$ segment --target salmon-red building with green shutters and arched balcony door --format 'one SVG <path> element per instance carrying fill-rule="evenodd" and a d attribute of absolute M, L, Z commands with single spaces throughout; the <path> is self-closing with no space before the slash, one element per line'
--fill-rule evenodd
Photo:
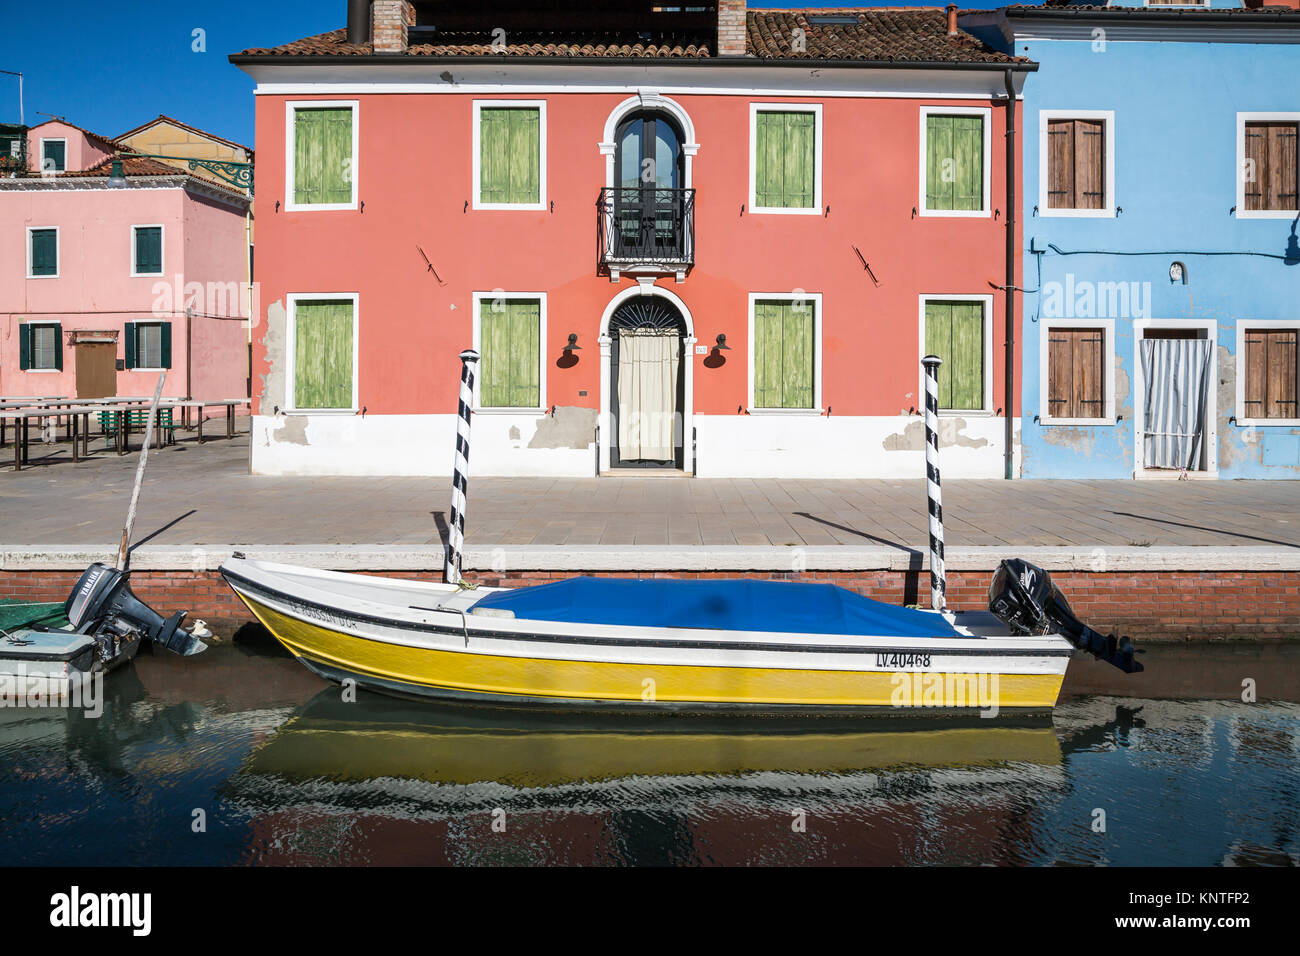
<path fill-rule="evenodd" d="M 927 352 L 945 477 L 1018 468 L 1006 139 L 1035 64 L 956 8 L 344 12 L 231 57 L 255 472 L 450 473 L 467 347 L 478 475 L 916 476 Z"/>

